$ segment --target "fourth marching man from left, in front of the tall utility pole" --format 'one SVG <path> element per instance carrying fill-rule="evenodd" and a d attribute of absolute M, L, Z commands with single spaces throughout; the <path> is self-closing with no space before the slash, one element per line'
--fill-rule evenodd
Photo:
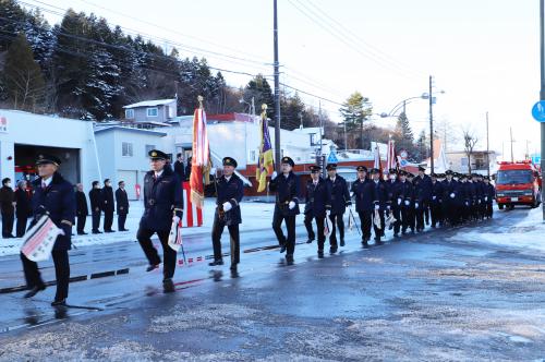
<path fill-rule="evenodd" d="M 299 177 L 293 173 L 295 166 L 290 157 L 282 157 L 282 173 L 272 172 L 269 190 L 276 192 L 275 215 L 272 230 L 280 244 L 280 253 L 286 253 L 286 260 L 293 262 L 295 251 L 295 216 L 299 214 Z M 286 221 L 288 238 L 282 232 L 282 221 Z"/>

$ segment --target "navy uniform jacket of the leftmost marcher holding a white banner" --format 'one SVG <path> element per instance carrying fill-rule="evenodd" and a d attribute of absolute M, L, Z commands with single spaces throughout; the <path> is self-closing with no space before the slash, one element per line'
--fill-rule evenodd
<path fill-rule="evenodd" d="M 53 173 L 49 186 L 41 188 L 41 178 L 33 182 L 33 215 L 36 222 L 46 212 L 51 221 L 57 225 L 64 236 L 57 237 L 53 250 L 70 250 L 72 248 L 72 222 L 75 218 L 75 193 L 70 182 L 60 173 Z"/>

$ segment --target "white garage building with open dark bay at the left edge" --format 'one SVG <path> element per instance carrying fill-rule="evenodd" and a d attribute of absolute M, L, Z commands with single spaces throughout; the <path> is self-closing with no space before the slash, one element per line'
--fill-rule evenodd
<path fill-rule="evenodd" d="M 0 109 L 1 178 L 33 179 L 40 153 L 59 157 L 72 183 L 101 178 L 92 122 Z"/>

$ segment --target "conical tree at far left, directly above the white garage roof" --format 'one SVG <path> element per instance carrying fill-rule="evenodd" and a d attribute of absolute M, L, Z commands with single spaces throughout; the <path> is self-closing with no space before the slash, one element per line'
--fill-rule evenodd
<path fill-rule="evenodd" d="M 3 77 L 12 107 L 36 111 L 44 101 L 45 81 L 23 34 L 17 35 L 8 49 Z"/>

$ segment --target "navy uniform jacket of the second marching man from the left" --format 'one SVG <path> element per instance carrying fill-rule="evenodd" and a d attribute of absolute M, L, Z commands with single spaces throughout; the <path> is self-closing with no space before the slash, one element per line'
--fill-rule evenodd
<path fill-rule="evenodd" d="M 148 171 L 144 177 L 144 215 L 141 228 L 155 231 L 168 231 L 172 225 L 174 213 L 183 216 L 182 181 L 170 167 L 165 167 L 157 180 L 155 172 Z"/>

